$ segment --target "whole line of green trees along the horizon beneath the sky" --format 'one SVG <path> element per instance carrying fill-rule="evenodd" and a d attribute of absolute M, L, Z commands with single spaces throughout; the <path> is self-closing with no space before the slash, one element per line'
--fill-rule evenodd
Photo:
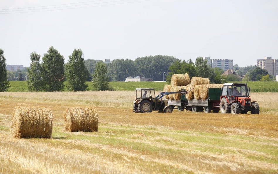
<path fill-rule="evenodd" d="M 84 60 L 81 49 L 75 49 L 69 55 L 69 61 L 65 63 L 64 57 L 53 47 L 50 47 L 42 57 L 36 52 L 30 54 L 30 67 L 26 71 L 6 71 L 6 59 L 4 51 L 0 49 L 0 91 L 7 91 L 9 78 L 18 76 L 23 79 L 28 74 L 29 91 L 62 91 L 64 86 L 69 91 L 87 90 L 86 81 L 92 81 L 95 90 L 107 90 L 109 81 L 124 81 L 126 77 L 145 77 L 152 80 L 171 79 L 173 74 L 188 73 L 190 77 L 209 78 L 211 83 L 225 83 L 240 81 L 241 78 L 234 75 L 223 76 L 220 68 L 210 68 L 203 57 L 196 58 L 195 62 L 179 60 L 173 56 L 155 55 L 130 59 L 115 59 L 111 63 L 103 63 L 101 60 Z M 234 65 L 234 71 L 244 81 L 270 81 L 267 70 L 257 66 L 238 67 Z"/>

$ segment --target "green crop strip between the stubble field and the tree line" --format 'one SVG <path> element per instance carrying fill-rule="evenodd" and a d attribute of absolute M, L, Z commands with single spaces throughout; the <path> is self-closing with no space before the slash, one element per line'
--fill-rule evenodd
<path fill-rule="evenodd" d="M 86 82 L 89 91 L 93 91 L 92 83 Z M 242 82 L 241 82 L 242 83 Z M 135 88 L 154 88 L 162 91 L 167 82 L 109 82 L 109 90 L 111 91 L 134 91 Z M 278 82 L 247 82 L 251 88 L 251 92 L 278 92 Z M 26 81 L 10 81 L 11 87 L 9 92 L 27 92 L 28 86 Z M 67 91 L 67 89 L 64 89 Z"/>

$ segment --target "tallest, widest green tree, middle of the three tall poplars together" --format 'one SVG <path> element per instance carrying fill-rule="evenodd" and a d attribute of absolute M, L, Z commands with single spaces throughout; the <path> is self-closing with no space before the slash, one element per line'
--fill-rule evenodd
<path fill-rule="evenodd" d="M 42 58 L 42 77 L 45 91 L 62 91 L 64 88 L 64 57 L 50 47 Z"/>

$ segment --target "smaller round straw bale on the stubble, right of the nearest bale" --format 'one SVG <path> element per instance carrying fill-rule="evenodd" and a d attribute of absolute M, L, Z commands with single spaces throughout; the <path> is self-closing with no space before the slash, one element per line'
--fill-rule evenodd
<path fill-rule="evenodd" d="M 97 131 L 99 126 L 99 117 L 96 108 L 93 107 L 75 107 L 67 108 L 65 114 L 65 130 L 76 132 Z"/>

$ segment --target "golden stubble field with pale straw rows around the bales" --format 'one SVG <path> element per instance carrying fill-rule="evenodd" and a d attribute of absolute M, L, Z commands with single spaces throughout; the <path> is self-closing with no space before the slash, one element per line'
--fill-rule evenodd
<path fill-rule="evenodd" d="M 277 173 L 278 93 L 251 94 L 260 115 L 133 113 L 134 93 L 0 93 L 0 173 Z M 51 109 L 52 138 L 13 138 L 15 106 Z M 76 106 L 96 107 L 98 132 L 64 131 Z"/>

